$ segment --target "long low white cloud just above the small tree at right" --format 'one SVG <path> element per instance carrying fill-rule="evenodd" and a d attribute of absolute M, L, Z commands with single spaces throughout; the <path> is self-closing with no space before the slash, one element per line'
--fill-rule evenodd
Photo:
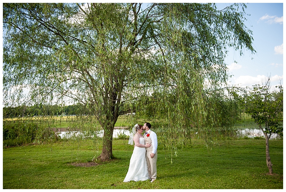
<path fill-rule="evenodd" d="M 282 80 L 283 75 L 279 76 L 279 75 L 274 75 L 273 77 L 270 77 L 270 81 L 272 83 L 279 83 L 280 79 Z M 245 75 L 245 76 L 239 76 L 238 78 L 234 78 L 235 80 L 235 84 L 240 85 L 241 87 L 245 87 L 245 86 L 251 86 L 251 85 L 256 85 L 256 84 L 261 84 L 261 82 L 265 83 L 265 80 L 267 80 L 267 77 L 265 75 L 257 75 L 257 77 L 252 77 L 249 75 Z M 281 82 L 281 84 L 283 84 L 283 81 Z"/>

